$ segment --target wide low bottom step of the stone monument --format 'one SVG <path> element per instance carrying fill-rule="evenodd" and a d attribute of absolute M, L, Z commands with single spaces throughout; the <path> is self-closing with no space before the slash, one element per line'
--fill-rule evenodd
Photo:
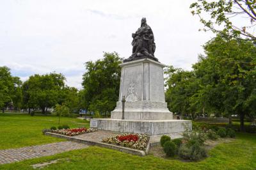
<path fill-rule="evenodd" d="M 161 135 L 184 132 L 186 127 L 191 129 L 192 124 L 190 120 L 92 119 L 90 127 L 113 132 Z"/>

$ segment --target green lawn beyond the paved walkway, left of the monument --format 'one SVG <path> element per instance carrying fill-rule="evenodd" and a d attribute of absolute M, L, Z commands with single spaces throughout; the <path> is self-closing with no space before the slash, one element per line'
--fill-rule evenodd
<path fill-rule="evenodd" d="M 89 127 L 88 122 L 77 118 L 63 117 L 60 123 L 70 127 Z M 42 134 L 44 128 L 52 126 L 58 127 L 58 117 L 0 113 L 0 150 L 65 141 Z"/>

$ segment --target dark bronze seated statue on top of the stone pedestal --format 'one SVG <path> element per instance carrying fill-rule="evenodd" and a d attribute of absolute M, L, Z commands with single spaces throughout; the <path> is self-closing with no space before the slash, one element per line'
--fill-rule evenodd
<path fill-rule="evenodd" d="M 132 38 L 132 56 L 125 59 L 124 62 L 143 58 L 150 58 L 158 61 L 154 56 L 156 50 L 154 34 L 150 26 L 147 25 L 146 18 L 141 19 L 141 26 L 136 33 L 132 33 Z"/>

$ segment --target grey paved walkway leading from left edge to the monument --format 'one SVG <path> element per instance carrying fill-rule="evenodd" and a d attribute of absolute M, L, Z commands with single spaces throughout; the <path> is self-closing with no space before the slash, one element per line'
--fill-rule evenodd
<path fill-rule="evenodd" d="M 70 150 L 87 148 L 88 144 L 64 141 L 60 143 L 49 143 L 24 148 L 0 150 L 0 164 L 8 164 L 29 158 L 45 157 Z"/>

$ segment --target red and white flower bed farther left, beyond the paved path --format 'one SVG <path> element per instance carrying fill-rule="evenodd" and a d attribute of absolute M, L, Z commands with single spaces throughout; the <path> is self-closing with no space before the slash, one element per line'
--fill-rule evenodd
<path fill-rule="evenodd" d="M 62 134 L 62 135 L 80 135 L 90 132 L 96 132 L 97 129 L 94 128 L 68 128 L 68 129 L 58 129 L 58 130 L 52 130 L 53 133 L 56 134 Z"/>

